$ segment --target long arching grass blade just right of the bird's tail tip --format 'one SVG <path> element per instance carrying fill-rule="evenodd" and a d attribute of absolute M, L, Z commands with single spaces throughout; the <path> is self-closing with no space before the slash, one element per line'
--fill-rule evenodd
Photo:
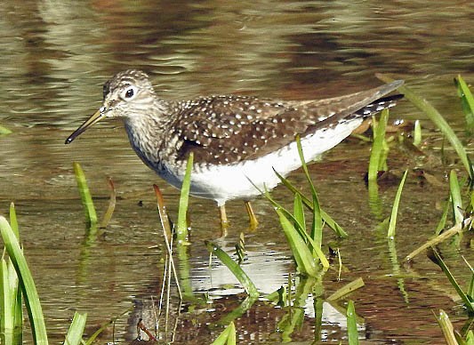
<path fill-rule="evenodd" d="M 388 76 L 377 76 L 386 83 L 393 81 L 393 79 Z M 434 108 L 427 100 L 424 100 L 420 96 L 416 95 L 407 86 L 400 86 L 398 91 L 403 92 L 407 100 L 410 100 L 415 107 L 420 108 L 430 118 L 430 120 L 438 126 L 441 132 L 443 132 L 443 134 L 446 136 L 446 139 L 449 140 L 458 156 L 461 158 L 462 164 L 470 175 L 470 180 L 473 180 L 474 173 L 472 171 L 472 164 L 470 164 L 470 159 L 466 153 L 466 149 L 462 145 L 461 140 L 459 140 L 459 138 L 454 133 L 453 129 L 449 126 L 449 124 L 447 124 L 444 117 L 441 116 L 438 110 Z"/>

